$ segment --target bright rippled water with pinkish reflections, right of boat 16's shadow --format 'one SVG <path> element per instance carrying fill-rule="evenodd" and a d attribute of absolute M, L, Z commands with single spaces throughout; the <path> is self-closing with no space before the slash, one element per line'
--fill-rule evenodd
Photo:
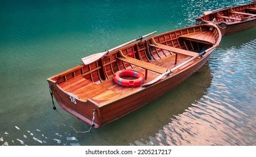
<path fill-rule="evenodd" d="M 135 144 L 255 145 L 255 56 L 255 38 L 217 49 L 209 61 L 213 79 L 207 94 L 156 136 Z"/>

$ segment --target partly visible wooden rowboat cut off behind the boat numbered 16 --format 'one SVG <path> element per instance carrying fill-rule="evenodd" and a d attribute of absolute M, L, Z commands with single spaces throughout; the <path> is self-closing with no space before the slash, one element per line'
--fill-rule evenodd
<path fill-rule="evenodd" d="M 222 35 L 230 35 L 256 26 L 256 3 L 243 6 L 228 6 L 214 11 L 205 11 L 196 19 L 196 25 L 213 22 L 220 27 Z"/>

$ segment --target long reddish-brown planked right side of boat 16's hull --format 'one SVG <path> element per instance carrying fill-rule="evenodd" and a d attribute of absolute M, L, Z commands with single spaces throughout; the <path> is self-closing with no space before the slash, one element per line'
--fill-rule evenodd
<path fill-rule="evenodd" d="M 159 96 L 164 95 L 167 91 L 172 90 L 177 85 L 181 84 L 183 81 L 188 79 L 189 76 L 193 75 L 200 67 L 207 62 L 209 56 L 205 56 L 202 60 L 195 63 L 193 66 L 186 68 L 186 70 L 177 73 L 177 75 L 172 76 L 164 81 L 154 84 L 150 87 L 147 87 L 145 90 L 130 95 L 127 98 L 120 99 L 112 104 L 106 105 L 100 108 L 100 116 L 102 117 L 102 125 L 114 121 L 126 114 L 129 114 L 133 110 L 136 110 L 143 105 L 153 101 Z"/>

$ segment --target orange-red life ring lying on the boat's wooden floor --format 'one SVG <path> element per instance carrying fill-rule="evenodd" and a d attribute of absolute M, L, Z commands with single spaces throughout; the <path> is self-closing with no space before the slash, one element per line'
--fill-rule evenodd
<path fill-rule="evenodd" d="M 132 76 L 132 77 L 136 77 L 137 79 L 135 79 L 135 80 L 122 79 L 121 77 L 124 77 L 124 76 Z M 120 70 L 115 73 L 114 81 L 116 82 L 116 84 L 118 84 L 120 86 L 138 87 L 144 83 L 145 79 L 144 79 L 144 75 L 138 71 Z"/>

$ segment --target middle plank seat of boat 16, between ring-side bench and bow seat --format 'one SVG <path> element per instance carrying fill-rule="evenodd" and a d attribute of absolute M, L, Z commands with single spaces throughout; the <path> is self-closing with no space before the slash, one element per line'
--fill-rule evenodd
<path fill-rule="evenodd" d="M 164 50 L 168 50 L 168 51 L 171 51 L 173 53 L 179 53 L 179 54 L 184 54 L 186 56 L 191 56 L 191 57 L 195 57 L 195 56 L 198 56 L 198 53 L 195 53 L 195 52 L 191 52 L 189 50 L 184 50 L 184 49 L 179 49 L 179 48 L 175 48 L 175 47 L 169 47 L 167 45 L 163 45 L 163 44 L 159 44 L 157 43 L 154 38 L 151 38 L 151 43 L 152 44 L 149 44 L 150 46 L 152 47 L 156 47 L 156 48 L 159 48 L 159 49 L 164 49 Z"/>

